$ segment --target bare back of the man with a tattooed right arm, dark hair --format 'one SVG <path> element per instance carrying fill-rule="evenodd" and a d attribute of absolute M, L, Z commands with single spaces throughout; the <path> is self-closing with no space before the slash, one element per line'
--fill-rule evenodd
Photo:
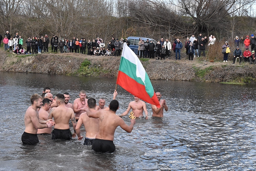
<path fill-rule="evenodd" d="M 65 105 L 52 108 L 49 116 L 51 114 L 54 118 L 54 128 L 56 129 L 69 129 L 69 120 L 75 117 L 74 111 Z"/>

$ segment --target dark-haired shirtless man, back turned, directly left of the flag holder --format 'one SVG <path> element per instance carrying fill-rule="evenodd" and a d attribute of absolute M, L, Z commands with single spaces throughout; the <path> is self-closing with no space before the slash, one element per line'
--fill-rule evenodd
<path fill-rule="evenodd" d="M 94 112 L 96 107 L 96 100 L 94 98 L 89 98 L 88 101 L 88 107 L 89 109 Z M 79 120 L 76 124 L 76 134 L 78 137 L 78 140 L 82 140 L 83 136 L 80 135 L 80 127 L 84 125 L 86 135 L 83 145 L 92 145 L 93 141 L 95 140 L 96 134 L 98 132 L 99 127 L 99 119 L 91 118 L 87 116 L 87 113 L 84 112 L 80 114 Z"/>

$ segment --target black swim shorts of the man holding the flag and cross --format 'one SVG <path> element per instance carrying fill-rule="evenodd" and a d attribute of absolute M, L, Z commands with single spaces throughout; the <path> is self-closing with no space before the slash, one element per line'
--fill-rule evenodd
<path fill-rule="evenodd" d="M 113 153 L 116 150 L 116 147 L 113 141 L 95 138 L 92 144 L 92 150 L 101 153 Z"/>

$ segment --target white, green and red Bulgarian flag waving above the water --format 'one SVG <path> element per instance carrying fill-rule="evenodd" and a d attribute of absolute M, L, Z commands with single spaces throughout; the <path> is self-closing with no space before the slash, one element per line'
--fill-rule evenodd
<path fill-rule="evenodd" d="M 123 51 L 117 76 L 117 84 L 127 92 L 160 107 L 153 86 L 136 54 L 123 44 Z"/>

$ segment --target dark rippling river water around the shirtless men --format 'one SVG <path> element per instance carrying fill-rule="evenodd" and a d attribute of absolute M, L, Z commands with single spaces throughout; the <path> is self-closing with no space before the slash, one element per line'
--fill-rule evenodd
<path fill-rule="evenodd" d="M 73 103 L 84 89 L 89 98 L 98 102 L 104 97 L 108 105 L 115 82 L 107 78 L 0 73 L 0 170 L 256 170 L 255 85 L 152 81 L 169 110 L 163 119 L 136 120 L 130 134 L 118 127 L 112 154 L 95 153 L 77 137 L 60 141 L 39 135 L 38 145 L 22 145 L 30 95 L 41 94 L 48 86 L 53 95 L 69 92 Z M 134 99 L 120 87 L 117 92 L 120 114 Z M 147 109 L 151 111 L 149 104 Z M 128 115 L 123 119 L 130 124 Z M 84 128 L 81 132 L 85 137 Z"/>

